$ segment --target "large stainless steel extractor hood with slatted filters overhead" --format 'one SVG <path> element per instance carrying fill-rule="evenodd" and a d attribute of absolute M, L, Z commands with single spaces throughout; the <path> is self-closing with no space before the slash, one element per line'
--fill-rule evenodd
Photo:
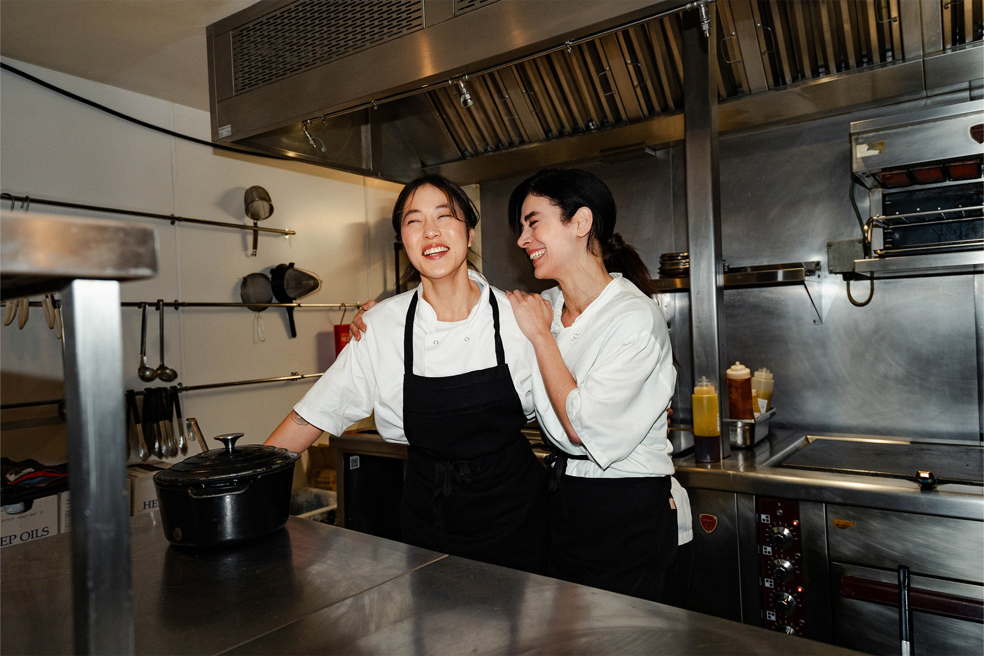
<path fill-rule="evenodd" d="M 939 0 L 267 0 L 209 27 L 213 139 L 395 180 L 644 157 L 702 4 L 722 132 L 984 77 L 984 17 Z"/>

